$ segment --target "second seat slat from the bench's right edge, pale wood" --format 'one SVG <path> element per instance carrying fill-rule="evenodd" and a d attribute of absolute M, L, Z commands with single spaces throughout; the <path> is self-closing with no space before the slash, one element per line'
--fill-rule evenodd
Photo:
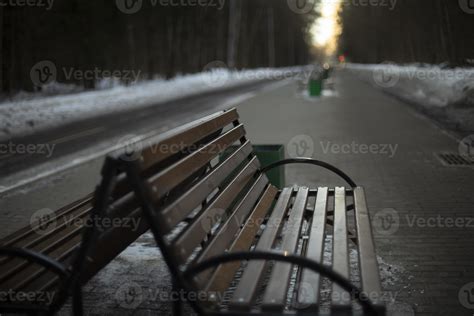
<path fill-rule="evenodd" d="M 332 266 L 335 272 L 349 279 L 349 252 L 347 246 L 346 190 L 336 187 L 334 193 L 334 234 Z M 350 314 L 350 293 L 333 283 L 332 309 L 335 313 Z"/>

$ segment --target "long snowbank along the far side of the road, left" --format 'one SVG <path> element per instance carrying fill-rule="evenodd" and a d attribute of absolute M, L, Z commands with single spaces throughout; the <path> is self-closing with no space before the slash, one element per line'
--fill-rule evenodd
<path fill-rule="evenodd" d="M 26 136 L 38 131 L 82 121 L 92 117 L 139 109 L 173 99 L 216 89 L 236 87 L 261 80 L 280 80 L 295 76 L 302 67 L 229 71 L 213 69 L 207 72 L 182 75 L 171 80 L 157 79 L 133 86 L 112 86 L 105 90 L 80 92 L 71 85 L 54 83 L 43 93 L 22 93 L 12 101 L 0 103 L 0 140 Z M 67 95 L 47 96 L 59 92 Z M 33 95 L 34 96 L 34 95 Z"/>

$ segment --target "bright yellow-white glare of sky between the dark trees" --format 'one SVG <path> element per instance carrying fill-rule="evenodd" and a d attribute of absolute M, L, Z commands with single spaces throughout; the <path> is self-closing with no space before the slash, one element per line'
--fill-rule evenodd
<path fill-rule="evenodd" d="M 328 55 L 332 55 L 336 51 L 337 37 L 340 33 L 340 25 L 338 24 L 339 6 L 339 0 L 322 0 L 321 16 L 316 19 L 311 28 L 314 45 L 324 49 Z"/>

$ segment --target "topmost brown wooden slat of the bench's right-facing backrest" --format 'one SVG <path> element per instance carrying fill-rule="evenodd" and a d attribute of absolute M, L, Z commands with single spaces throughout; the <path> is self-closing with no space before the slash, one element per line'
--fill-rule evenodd
<path fill-rule="evenodd" d="M 238 120 L 238 118 L 239 115 L 237 114 L 237 111 L 232 109 L 223 112 L 217 117 L 204 118 L 197 122 L 193 122 L 193 125 L 196 123 L 193 127 L 167 138 L 159 142 L 157 145 L 145 148 L 142 151 L 142 169 L 147 169 L 150 166 L 179 153 L 206 136 L 209 136 L 226 125 Z"/>

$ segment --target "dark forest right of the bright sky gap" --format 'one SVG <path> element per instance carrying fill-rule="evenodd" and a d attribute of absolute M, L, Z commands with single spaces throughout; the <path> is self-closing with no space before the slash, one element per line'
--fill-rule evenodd
<path fill-rule="evenodd" d="M 472 65 L 474 7 L 471 12 L 469 1 L 463 7 L 458 0 L 398 0 L 393 10 L 346 1 L 340 51 L 360 63 Z"/>

